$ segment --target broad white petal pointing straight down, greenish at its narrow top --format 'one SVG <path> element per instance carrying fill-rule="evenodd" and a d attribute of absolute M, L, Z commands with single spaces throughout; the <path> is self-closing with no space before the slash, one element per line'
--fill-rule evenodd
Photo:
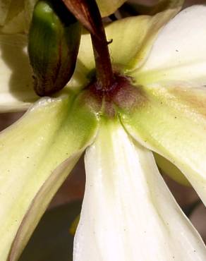
<path fill-rule="evenodd" d="M 85 157 L 74 261 L 205 260 L 197 231 L 159 174 L 152 152 L 119 123 L 103 123 Z"/>

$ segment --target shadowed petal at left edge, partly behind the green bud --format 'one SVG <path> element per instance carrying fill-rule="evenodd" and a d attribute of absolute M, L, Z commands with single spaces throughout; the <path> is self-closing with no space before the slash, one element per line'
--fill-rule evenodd
<path fill-rule="evenodd" d="M 0 111 L 28 109 L 37 100 L 24 35 L 0 35 Z"/>

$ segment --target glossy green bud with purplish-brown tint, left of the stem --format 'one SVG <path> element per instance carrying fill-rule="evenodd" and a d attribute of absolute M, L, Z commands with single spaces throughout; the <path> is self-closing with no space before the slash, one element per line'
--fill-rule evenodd
<path fill-rule="evenodd" d="M 28 51 L 37 95 L 61 90 L 73 75 L 81 26 L 58 0 L 37 2 L 30 26 Z"/>

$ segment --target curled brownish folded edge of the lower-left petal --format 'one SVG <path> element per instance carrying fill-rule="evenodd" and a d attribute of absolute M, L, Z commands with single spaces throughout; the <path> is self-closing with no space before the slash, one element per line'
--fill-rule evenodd
<path fill-rule="evenodd" d="M 9 261 L 18 260 L 18 257 L 25 248 L 26 243 L 28 243 L 28 240 L 32 235 L 32 232 L 35 229 L 35 226 L 37 226 L 38 222 L 40 221 L 40 218 L 42 217 L 42 214 L 47 209 L 48 203 L 50 202 L 50 200 L 52 200 L 54 194 L 61 186 L 66 176 L 68 176 L 71 169 L 73 169 L 73 166 L 78 161 L 81 152 L 83 151 L 79 151 L 72 157 L 69 157 L 59 167 L 57 167 L 54 171 L 50 173 L 50 176 L 49 178 L 47 178 L 47 181 L 42 183 L 42 187 L 40 188 L 40 190 L 37 191 L 37 194 L 35 195 L 35 198 L 32 200 L 30 207 L 28 207 L 28 210 L 25 213 L 25 216 L 18 229 L 18 232 L 16 233 L 15 240 L 12 243 L 8 257 Z M 16 219 L 14 220 L 14 222 L 16 222 Z"/>

